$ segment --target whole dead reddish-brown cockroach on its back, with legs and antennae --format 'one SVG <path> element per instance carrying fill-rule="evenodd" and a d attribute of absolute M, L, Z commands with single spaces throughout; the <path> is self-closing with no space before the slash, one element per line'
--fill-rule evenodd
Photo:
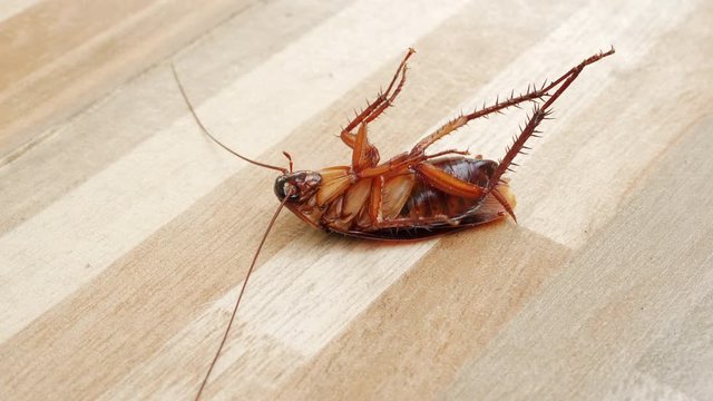
<path fill-rule="evenodd" d="M 289 168 L 284 168 L 250 159 L 221 143 L 201 123 L 176 68 L 172 65 L 180 94 L 198 127 L 208 138 L 245 162 L 281 173 L 274 184 L 280 206 L 255 251 L 223 340 L 201 383 L 196 400 L 201 398 L 223 350 L 257 256 L 283 207 L 286 206 L 309 225 L 326 232 L 385 241 L 428 238 L 494 222 L 506 215 L 517 222 L 514 212 L 515 195 L 504 175 L 511 172 L 511 166 L 517 166 L 512 162 L 515 157 L 529 149 L 525 145 L 527 140 L 539 137 L 541 131 L 537 128 L 543 120 L 548 119 L 550 108 L 559 96 L 586 66 L 613 55 L 614 48 L 606 52 L 599 51 L 558 79 L 549 84 L 545 81 L 539 88 L 528 86 L 525 94 L 515 96 L 511 92 L 502 101 L 496 100 L 491 106 L 484 105 L 481 109 L 461 114 L 418 141 L 410 151 L 380 163 L 379 149 L 369 141 L 368 127 L 393 105 L 401 92 L 406 82 L 407 62 L 414 52 L 413 49 L 407 51 L 387 89 L 342 129 L 340 138 L 352 149 L 351 164 L 299 172 L 292 169 L 292 157 L 287 153 L 283 153 L 289 160 Z M 509 107 L 519 108 L 520 104 L 527 101 L 534 104 L 533 114 L 499 162 L 480 156 L 471 157 L 468 151 L 456 149 L 430 155 L 426 153 L 436 141 L 469 121 L 501 113 Z"/>

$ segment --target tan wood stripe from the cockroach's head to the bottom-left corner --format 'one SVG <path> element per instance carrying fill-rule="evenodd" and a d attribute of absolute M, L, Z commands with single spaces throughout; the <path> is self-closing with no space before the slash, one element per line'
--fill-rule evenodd
<path fill-rule="evenodd" d="M 238 280 L 235 267 L 250 263 L 252 250 L 240 252 L 242 244 L 254 243 L 251 241 L 254 234 L 245 227 L 264 224 L 260 213 L 234 214 L 235 204 L 231 199 L 236 194 L 264 193 L 245 185 L 248 174 L 236 176 L 201 199 L 182 218 L 162 227 L 89 285 L 0 344 L 0 370 L 27 372 L 27 376 L 33 378 L 23 381 L 21 375 L 2 376 L 17 389 L 18 397 L 98 397 L 134 364 L 164 348 L 174 333 L 214 300 L 214 293 L 222 294 L 232 287 Z M 257 180 L 265 178 L 263 175 Z M 254 200 L 260 205 L 274 199 L 271 194 L 264 195 L 270 196 L 254 196 Z M 266 260 L 274 250 L 294 241 L 295 233 L 303 227 L 294 222 L 294 227 L 285 228 L 272 236 L 264 253 Z M 62 346 L 56 348 L 58 343 Z M 176 380 L 187 371 L 203 371 L 205 355 L 213 348 L 213 342 L 203 343 L 202 348 L 192 344 L 189 349 L 197 355 L 187 354 L 193 356 L 194 364 L 176 370 L 177 364 L 169 362 L 169 370 L 156 373 L 170 374 L 169 380 Z M 196 363 L 196 368 L 189 368 Z"/>

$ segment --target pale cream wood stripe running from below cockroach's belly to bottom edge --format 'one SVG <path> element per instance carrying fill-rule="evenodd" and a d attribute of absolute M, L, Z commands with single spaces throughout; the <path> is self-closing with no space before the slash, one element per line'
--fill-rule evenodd
<path fill-rule="evenodd" d="M 228 381 L 241 378 L 238 384 L 223 389 L 231 397 L 250 394 L 256 385 L 263 392 L 274 390 L 280 381 L 271 374 L 286 379 L 290 372 L 342 332 L 430 247 L 426 243 L 410 245 L 406 248 L 407 256 L 384 264 L 380 261 L 391 252 L 390 246 L 374 250 L 368 243 L 353 243 L 336 252 L 326 252 L 334 250 L 340 238 L 325 239 L 318 235 L 304 239 L 283 247 L 261 266 L 252 280 L 250 302 L 242 309 L 236 331 L 215 370 L 215 378 L 228 369 L 233 376 Z M 334 266 L 351 267 L 345 271 Z M 310 291 L 305 292 L 305 288 Z M 159 354 L 153 355 L 148 363 L 110 390 L 109 398 L 116 397 L 117 390 L 119 394 L 141 397 L 168 397 L 194 391 L 199 376 L 186 376 L 180 382 L 172 382 L 166 389 L 156 389 L 152 383 L 159 381 L 154 372 L 170 372 L 175 359 L 194 363 L 203 359 L 201 365 L 205 366 L 208 361 L 205 355 L 214 352 L 236 295 L 235 290 L 231 291 L 206 309 Z M 211 335 L 206 339 L 207 330 Z M 187 352 L 198 339 L 202 352 Z M 280 363 L 275 364 L 277 360 Z M 240 364 L 233 369 L 237 361 Z"/>

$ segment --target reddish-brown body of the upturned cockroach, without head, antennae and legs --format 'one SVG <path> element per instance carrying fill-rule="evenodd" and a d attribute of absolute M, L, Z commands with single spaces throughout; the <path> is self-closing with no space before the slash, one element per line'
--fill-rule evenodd
<path fill-rule="evenodd" d="M 496 162 L 470 157 L 426 163 L 480 187 L 488 185 L 497 167 Z M 355 182 L 348 167 L 330 167 L 318 173 L 322 175 L 322 185 L 314 196 L 286 206 L 303 221 L 329 232 L 363 238 L 416 239 L 492 222 L 506 213 L 491 195 L 480 198 L 450 195 L 416 172 Z M 374 180 L 383 183 L 374 185 Z M 379 188 L 380 193 L 375 193 Z M 507 184 L 500 184 L 498 190 L 515 206 L 515 196 Z M 374 197 L 380 198 L 378 208 L 370 207 Z M 381 215 L 373 216 L 374 209 Z"/>

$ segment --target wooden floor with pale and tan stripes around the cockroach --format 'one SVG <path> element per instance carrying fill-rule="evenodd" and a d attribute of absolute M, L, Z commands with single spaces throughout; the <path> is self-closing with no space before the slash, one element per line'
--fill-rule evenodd
<path fill-rule="evenodd" d="M 713 3 L 6 0 L 0 398 L 191 399 L 274 172 L 418 53 L 382 157 L 613 45 L 511 175 L 511 221 L 360 242 L 284 213 L 207 399 L 713 399 Z M 501 157 L 525 110 L 440 149 Z"/>

